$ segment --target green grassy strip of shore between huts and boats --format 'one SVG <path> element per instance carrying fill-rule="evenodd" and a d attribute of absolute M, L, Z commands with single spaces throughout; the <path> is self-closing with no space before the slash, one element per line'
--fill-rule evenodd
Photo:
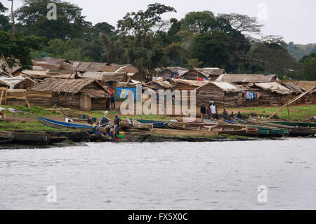
<path fill-rule="evenodd" d="M 6 108 L 4 110 L 5 119 L 0 121 L 0 131 L 11 131 L 16 129 L 22 129 L 25 131 L 71 131 L 71 130 L 58 130 L 52 129 L 50 127 L 42 125 L 38 120 L 37 117 L 47 117 L 51 119 L 56 119 L 59 121 L 63 121 L 64 118 L 62 115 L 55 110 L 46 110 L 44 107 L 23 107 L 23 106 L 10 106 L 5 105 L 1 106 Z M 20 110 L 20 113 L 13 113 L 9 112 L 8 108 L 13 108 L 15 110 Z M 251 113 L 254 114 L 262 114 L 264 117 L 268 117 L 269 114 L 275 112 L 278 107 L 227 107 L 226 110 L 228 112 L 242 112 L 243 116 L 249 117 Z M 221 114 L 223 108 L 218 108 L 218 112 Z M 70 110 L 70 112 L 79 112 L 79 113 L 86 113 L 97 117 L 103 116 L 102 111 L 91 111 L 91 112 L 83 112 L 80 110 Z M 309 119 L 316 115 L 316 105 L 294 105 L 289 108 L 290 118 L 291 119 Z M 133 119 L 149 119 L 149 120 L 164 120 L 169 121 L 170 119 L 174 119 L 174 117 L 169 117 L 167 115 L 153 115 L 153 114 L 141 114 L 141 115 L 122 115 L 119 111 L 112 111 L 109 110 L 108 117 L 113 121 L 114 114 L 119 114 L 121 118 L 133 118 Z M 287 108 L 281 110 L 278 114 L 279 117 L 288 118 Z M 180 117 L 180 116 L 179 116 Z M 199 117 L 199 108 L 197 108 L 197 117 Z"/>

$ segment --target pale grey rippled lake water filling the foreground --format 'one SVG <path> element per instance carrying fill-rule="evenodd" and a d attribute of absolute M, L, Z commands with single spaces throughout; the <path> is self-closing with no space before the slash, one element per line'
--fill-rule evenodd
<path fill-rule="evenodd" d="M 316 139 L 0 150 L 0 181 L 0 209 L 316 209 Z"/>

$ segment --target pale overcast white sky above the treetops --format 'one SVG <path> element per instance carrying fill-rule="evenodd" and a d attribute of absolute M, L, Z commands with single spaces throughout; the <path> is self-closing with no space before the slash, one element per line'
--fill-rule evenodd
<path fill-rule="evenodd" d="M 67 0 L 66 0 L 67 1 Z M 4 6 L 11 7 L 11 1 L 1 0 Z M 316 43 L 316 0 L 72 0 L 83 8 L 86 20 L 96 24 L 108 22 L 116 26 L 117 20 L 131 11 L 145 10 L 148 4 L 159 2 L 176 8 L 177 13 L 166 13 L 164 19 L 183 18 L 190 11 L 212 11 L 213 13 L 239 13 L 258 17 L 264 15 L 267 6 L 267 18 L 259 20 L 265 25 L 263 35 L 280 35 L 285 41 L 295 44 Z M 14 0 L 15 7 L 22 5 L 22 0 Z M 259 6 L 259 8 L 258 8 Z"/>

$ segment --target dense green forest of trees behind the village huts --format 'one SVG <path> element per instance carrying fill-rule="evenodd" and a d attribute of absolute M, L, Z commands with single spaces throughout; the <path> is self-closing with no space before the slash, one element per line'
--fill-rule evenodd
<path fill-rule="evenodd" d="M 48 20 L 48 3 L 57 5 L 57 19 Z M 248 15 L 190 12 L 185 18 L 162 20 L 176 8 L 150 4 L 126 13 L 116 27 L 92 25 L 79 6 L 59 0 L 25 0 L 14 12 L 15 34 L 8 8 L 0 3 L 0 53 L 10 65 L 25 67 L 31 59 L 51 56 L 67 60 L 131 63 L 150 79 L 157 67 L 221 67 L 227 73 L 278 74 L 282 79 L 316 80 L 313 54 L 294 58 L 296 47 L 282 37 L 254 39 L 262 25 Z M 313 50 L 315 51 L 315 49 Z M 291 52 L 291 53 L 289 53 Z M 302 53 L 304 52 L 304 53 Z M 300 59 L 300 61 L 296 60 Z"/>

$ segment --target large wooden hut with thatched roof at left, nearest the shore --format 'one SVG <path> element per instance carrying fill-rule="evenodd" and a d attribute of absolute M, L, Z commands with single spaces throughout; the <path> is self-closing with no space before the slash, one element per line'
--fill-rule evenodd
<path fill-rule="evenodd" d="M 53 104 L 79 110 L 105 110 L 109 93 L 96 80 L 45 79 L 32 89 L 52 91 Z"/>

